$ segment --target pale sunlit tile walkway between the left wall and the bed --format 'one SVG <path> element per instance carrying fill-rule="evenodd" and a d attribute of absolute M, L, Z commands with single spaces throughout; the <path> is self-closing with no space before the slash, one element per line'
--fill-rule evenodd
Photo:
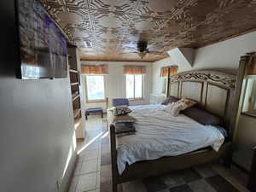
<path fill-rule="evenodd" d="M 78 163 L 69 192 L 99 192 L 101 170 L 102 119 L 91 115 L 86 121 L 87 135 L 78 143 Z"/>

